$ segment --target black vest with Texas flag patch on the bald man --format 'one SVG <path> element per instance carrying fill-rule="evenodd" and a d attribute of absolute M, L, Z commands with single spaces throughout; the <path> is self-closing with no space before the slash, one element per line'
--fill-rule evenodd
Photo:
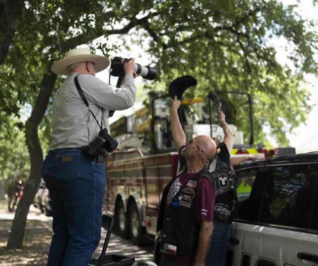
<path fill-rule="evenodd" d="M 196 222 L 196 184 L 200 178 L 208 178 L 213 185 L 212 176 L 207 168 L 204 168 L 192 177 L 187 184 L 178 184 L 178 178 L 182 171 L 165 188 L 164 204 L 166 204 L 163 217 L 161 250 L 164 253 L 188 256 L 194 255 L 197 248 L 198 231 L 200 223 Z M 170 188 L 174 189 L 169 193 Z"/>

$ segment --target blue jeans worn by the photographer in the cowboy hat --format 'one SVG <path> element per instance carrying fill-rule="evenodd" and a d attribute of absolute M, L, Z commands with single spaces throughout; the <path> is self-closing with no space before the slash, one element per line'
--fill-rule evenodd
<path fill-rule="evenodd" d="M 101 235 L 105 162 L 81 149 L 57 149 L 45 158 L 42 177 L 53 211 L 48 266 L 87 266 Z"/>

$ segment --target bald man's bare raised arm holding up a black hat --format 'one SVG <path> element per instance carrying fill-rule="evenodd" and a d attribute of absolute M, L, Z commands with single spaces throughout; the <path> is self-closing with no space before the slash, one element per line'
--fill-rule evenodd
<path fill-rule="evenodd" d="M 179 150 L 181 146 L 185 145 L 186 139 L 183 132 L 182 126 L 178 117 L 178 109 L 181 103 L 175 96 L 174 100 L 171 102 L 170 106 L 170 119 L 171 119 L 171 134 L 172 138 Z"/>

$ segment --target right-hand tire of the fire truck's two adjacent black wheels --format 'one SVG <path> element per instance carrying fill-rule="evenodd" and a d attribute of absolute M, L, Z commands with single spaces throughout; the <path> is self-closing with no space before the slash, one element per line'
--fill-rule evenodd
<path fill-rule="evenodd" d="M 137 245 L 141 246 L 145 242 L 145 230 L 146 228 L 141 225 L 139 212 L 136 203 L 132 203 L 129 206 L 129 233 L 131 236 L 131 241 Z"/>

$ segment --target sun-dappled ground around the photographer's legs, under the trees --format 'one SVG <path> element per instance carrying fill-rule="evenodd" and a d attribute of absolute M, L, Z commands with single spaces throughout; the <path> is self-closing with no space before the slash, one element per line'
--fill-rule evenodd
<path fill-rule="evenodd" d="M 7 250 L 6 245 L 11 230 L 14 214 L 8 213 L 7 201 L 0 201 L 0 266 L 20 265 L 46 265 L 48 251 L 52 238 L 52 217 L 47 217 L 30 207 L 25 229 L 23 247 L 21 249 Z M 99 256 L 106 230 L 102 228 L 102 236 L 99 246 L 93 257 Z M 143 247 L 133 245 L 129 240 L 124 240 L 114 234 L 111 235 L 107 253 L 124 256 L 133 256 L 136 260 L 152 260 L 152 244 Z"/>

